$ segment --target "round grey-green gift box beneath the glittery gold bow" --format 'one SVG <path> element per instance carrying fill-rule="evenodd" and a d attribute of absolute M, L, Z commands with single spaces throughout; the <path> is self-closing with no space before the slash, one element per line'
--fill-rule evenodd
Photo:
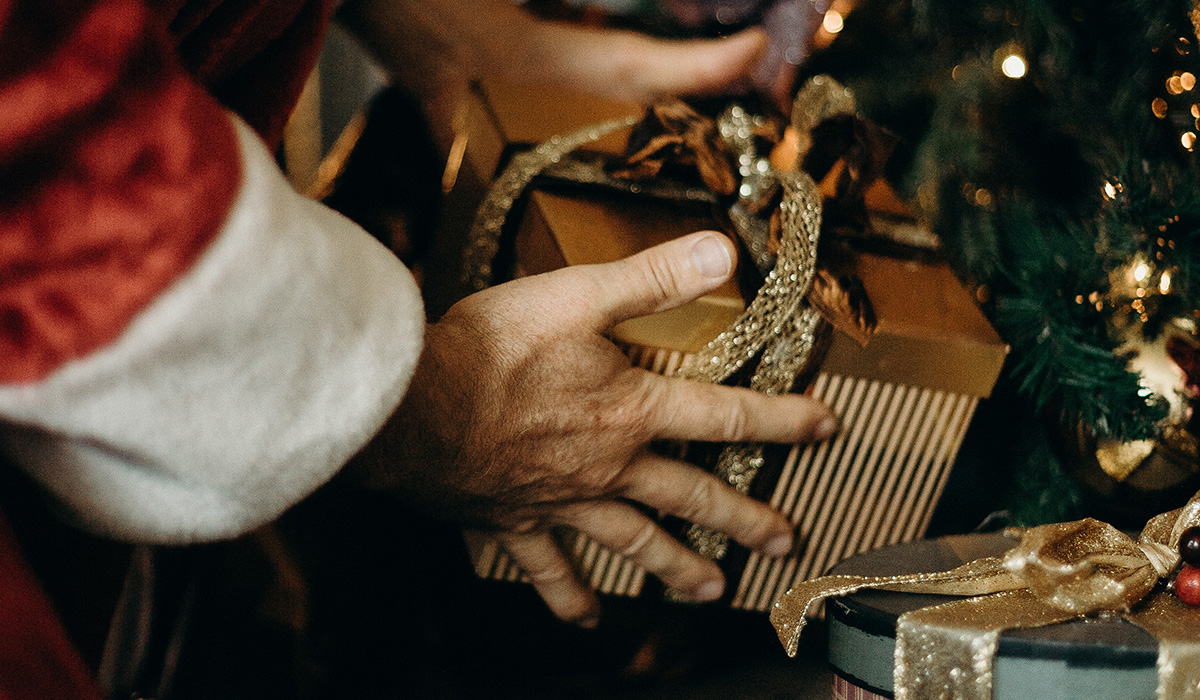
<path fill-rule="evenodd" d="M 953 569 L 1016 544 L 1001 534 L 946 537 L 851 557 L 832 574 L 888 576 Z M 949 596 L 860 591 L 830 599 L 829 664 L 834 700 L 892 698 L 896 618 L 954 600 Z M 1085 618 L 1000 636 L 994 700 L 1154 700 L 1158 645 L 1124 620 Z"/>

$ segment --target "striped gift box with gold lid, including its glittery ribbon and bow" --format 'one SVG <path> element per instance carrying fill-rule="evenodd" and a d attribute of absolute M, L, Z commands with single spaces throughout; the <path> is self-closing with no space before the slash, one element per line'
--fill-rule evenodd
<path fill-rule="evenodd" d="M 496 177 L 464 244 L 466 286 L 726 231 L 742 250 L 734 281 L 620 323 L 612 340 L 650 371 L 805 391 L 841 420 L 839 433 L 814 444 L 662 445 L 768 502 L 804 540 L 797 554 L 772 558 L 719 532 L 665 522 L 722 567 L 725 603 L 764 611 L 850 555 L 919 538 L 1007 347 L 949 268 L 913 245 L 928 234 L 866 177 L 881 170 L 884 139 L 853 113 L 848 91 L 815 79 L 790 125 L 738 106 L 709 118 L 664 103 L 643 115 L 529 95 L 481 88 L 461 125 L 467 148 L 456 177 L 468 184 L 450 193 L 450 210 L 473 205 L 478 183 Z M 494 540 L 468 544 L 481 576 L 522 579 Z M 563 532 L 560 544 L 601 593 L 661 593 L 584 536 Z"/>

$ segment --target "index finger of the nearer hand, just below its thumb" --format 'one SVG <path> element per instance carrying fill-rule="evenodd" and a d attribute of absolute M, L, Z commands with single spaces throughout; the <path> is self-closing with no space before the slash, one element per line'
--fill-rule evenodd
<path fill-rule="evenodd" d="M 800 394 L 768 396 L 740 387 L 721 387 L 650 375 L 647 378 L 649 429 L 655 437 L 707 442 L 811 442 L 838 430 L 829 408 Z"/>

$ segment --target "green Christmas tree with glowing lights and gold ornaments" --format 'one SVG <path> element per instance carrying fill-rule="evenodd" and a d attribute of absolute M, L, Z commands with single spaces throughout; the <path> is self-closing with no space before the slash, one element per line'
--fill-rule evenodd
<path fill-rule="evenodd" d="M 1177 463 L 1147 487 L 1195 489 L 1198 23 L 1178 0 L 864 0 L 805 66 L 901 137 L 889 178 L 1012 346 L 1024 430 L 1099 454 L 1102 499 L 1164 432 Z M 1178 385 L 1139 369 L 1153 348 Z M 1022 437 L 1016 520 L 1073 515 L 1079 493 Z"/>

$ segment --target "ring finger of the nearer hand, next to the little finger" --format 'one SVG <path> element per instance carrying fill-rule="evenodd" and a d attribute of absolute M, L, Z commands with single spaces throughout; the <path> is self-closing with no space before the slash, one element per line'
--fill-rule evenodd
<path fill-rule="evenodd" d="M 600 501 L 581 503 L 560 515 L 565 523 L 694 600 L 716 600 L 725 591 L 716 564 L 680 544 L 636 508 Z"/>

